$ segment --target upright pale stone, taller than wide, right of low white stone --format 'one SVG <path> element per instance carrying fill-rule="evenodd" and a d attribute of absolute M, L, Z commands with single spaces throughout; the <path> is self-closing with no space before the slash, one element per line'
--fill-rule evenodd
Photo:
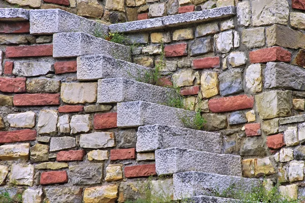
<path fill-rule="evenodd" d="M 54 134 L 57 132 L 57 111 L 41 110 L 38 115 L 38 133 Z"/>

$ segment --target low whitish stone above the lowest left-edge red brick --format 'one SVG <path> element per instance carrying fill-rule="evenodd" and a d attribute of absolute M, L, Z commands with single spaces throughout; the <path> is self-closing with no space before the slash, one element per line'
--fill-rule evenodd
<path fill-rule="evenodd" d="M 33 111 L 24 113 L 8 114 L 10 127 L 35 127 L 36 114 Z"/>

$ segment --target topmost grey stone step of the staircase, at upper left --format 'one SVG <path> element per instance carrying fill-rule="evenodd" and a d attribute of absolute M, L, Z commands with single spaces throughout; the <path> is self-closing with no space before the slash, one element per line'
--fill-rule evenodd
<path fill-rule="evenodd" d="M 85 32 L 90 35 L 108 35 L 109 27 L 93 20 L 77 16 L 60 9 L 38 9 L 29 11 L 29 32 L 32 35 L 57 32 Z"/>

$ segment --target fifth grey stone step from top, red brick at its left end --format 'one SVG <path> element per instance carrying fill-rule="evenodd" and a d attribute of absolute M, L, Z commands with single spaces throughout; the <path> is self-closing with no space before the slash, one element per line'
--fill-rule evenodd
<path fill-rule="evenodd" d="M 187 111 L 145 101 L 117 103 L 117 127 L 138 127 L 142 125 L 171 125 L 188 127 L 185 118 L 192 123 L 194 111 Z"/>

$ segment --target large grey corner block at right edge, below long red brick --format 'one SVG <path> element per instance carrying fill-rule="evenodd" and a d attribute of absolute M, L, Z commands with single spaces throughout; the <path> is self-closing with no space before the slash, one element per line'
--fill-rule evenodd
<path fill-rule="evenodd" d="M 305 70 L 283 62 L 268 62 L 265 88 L 305 90 Z"/>

